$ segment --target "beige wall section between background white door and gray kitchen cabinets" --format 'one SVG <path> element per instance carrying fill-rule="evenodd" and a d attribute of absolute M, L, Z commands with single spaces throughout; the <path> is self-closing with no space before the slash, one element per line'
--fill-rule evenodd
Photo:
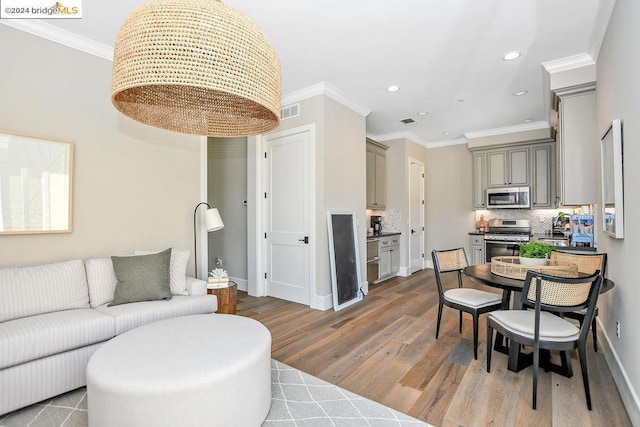
<path fill-rule="evenodd" d="M 474 229 L 471 152 L 466 144 L 427 151 L 427 259 L 433 249 L 464 246 Z"/>

